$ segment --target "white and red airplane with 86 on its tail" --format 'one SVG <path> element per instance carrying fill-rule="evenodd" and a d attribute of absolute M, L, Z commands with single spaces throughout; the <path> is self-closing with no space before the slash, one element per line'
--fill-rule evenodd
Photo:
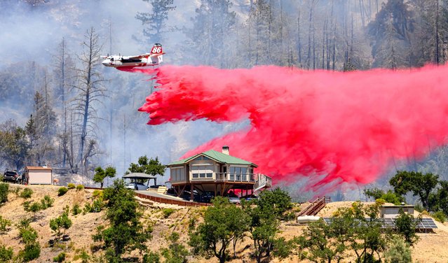
<path fill-rule="evenodd" d="M 112 66 L 114 68 L 132 69 L 138 66 L 156 66 L 163 62 L 162 44 L 155 43 L 151 52 L 138 56 L 101 56 L 104 58 L 102 64 L 104 66 Z"/>

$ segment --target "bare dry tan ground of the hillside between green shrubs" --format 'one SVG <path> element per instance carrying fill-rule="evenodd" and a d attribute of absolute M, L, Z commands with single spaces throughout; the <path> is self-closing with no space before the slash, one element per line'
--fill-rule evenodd
<path fill-rule="evenodd" d="M 25 188 L 22 185 L 10 185 L 10 190 L 15 188 Z M 41 245 L 41 257 L 34 262 L 51 262 L 53 257 L 60 252 L 65 251 L 67 253 L 67 261 L 81 262 L 76 259 L 76 255 L 79 255 L 81 250 L 86 250 L 90 257 L 98 257 L 100 252 L 92 253 L 93 241 L 91 235 L 95 233 L 95 228 L 99 225 L 106 224 L 104 220 L 104 212 L 100 213 L 86 213 L 79 215 L 70 215 L 73 221 L 71 228 L 67 230 L 69 240 L 65 241 L 62 246 L 50 246 L 49 241 L 55 238 L 49 227 L 49 221 L 52 218 L 57 217 L 62 213 L 65 206 L 72 206 L 79 204 L 81 208 L 86 202 L 91 201 L 93 190 L 69 190 L 67 194 L 62 197 L 57 196 L 57 186 L 52 185 L 31 185 L 29 186 L 34 193 L 32 194 L 32 201 L 39 201 L 44 195 L 48 194 L 55 199 L 53 207 L 47 208 L 44 211 L 36 213 L 36 220 L 31 223 L 31 226 L 37 230 L 39 234 L 39 243 Z M 16 196 L 15 193 L 10 192 L 8 194 L 8 202 L 0 207 L 0 215 L 13 222 L 18 222 L 21 218 L 29 218 L 32 213 L 25 212 L 22 206 L 24 199 Z M 165 236 L 172 231 L 180 232 L 180 241 L 186 243 L 188 241 L 187 229 L 191 218 L 200 218 L 201 211 L 205 208 L 184 208 L 180 206 L 172 206 L 167 204 L 154 204 L 151 202 L 141 201 L 144 208 L 144 216 L 142 220 L 145 223 L 151 223 L 154 225 L 153 239 L 147 243 L 147 246 L 152 251 L 161 250 L 168 246 L 165 241 Z M 327 207 L 320 211 L 318 215 L 322 217 L 331 216 L 337 208 L 350 206 L 350 201 L 333 202 L 327 204 Z M 175 212 L 165 218 L 163 216 L 162 208 L 174 208 Z M 445 244 L 448 243 L 448 226 L 437 222 L 438 229 L 435 233 L 431 234 L 419 234 L 420 240 L 414 248 L 412 248 L 412 257 L 414 262 L 447 262 L 448 250 L 445 249 Z M 287 239 L 293 236 L 299 236 L 304 231 L 304 226 L 291 225 L 290 222 L 285 222 L 281 225 L 281 234 Z M 13 246 L 15 254 L 21 250 L 24 245 L 20 243 L 18 239 L 18 229 L 15 226 L 10 227 L 10 230 L 1 235 L 1 243 L 6 246 Z M 231 260 L 230 262 L 254 262 L 250 258 L 250 245 L 249 239 L 245 239 L 240 246 L 237 247 L 238 259 Z M 231 252 L 233 252 L 231 250 Z M 137 256 L 137 254 L 135 255 Z M 189 262 L 218 262 L 215 258 L 210 260 L 198 259 L 190 257 Z M 279 260 L 272 260 L 271 262 L 280 262 Z M 298 262 L 297 257 L 291 257 L 290 259 L 283 260 L 281 262 Z M 303 261 L 306 262 L 306 261 Z"/>

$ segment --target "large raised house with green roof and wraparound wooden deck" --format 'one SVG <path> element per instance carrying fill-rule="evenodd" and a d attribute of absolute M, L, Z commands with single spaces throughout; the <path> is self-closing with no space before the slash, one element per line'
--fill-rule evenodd
<path fill-rule="evenodd" d="M 199 194 L 214 192 L 215 196 L 230 190 L 252 194 L 272 185 L 269 176 L 255 173 L 257 164 L 231 156 L 228 146 L 224 146 L 222 152 L 208 150 L 167 166 L 176 194 L 180 197 L 189 191 L 191 200 L 194 191 Z"/>

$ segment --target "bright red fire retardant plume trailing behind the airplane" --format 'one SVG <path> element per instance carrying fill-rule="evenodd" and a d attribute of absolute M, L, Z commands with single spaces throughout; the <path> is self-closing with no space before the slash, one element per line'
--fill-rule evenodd
<path fill-rule="evenodd" d="M 133 70 L 154 73 L 151 69 Z M 278 66 L 161 66 L 140 111 L 149 125 L 250 120 L 184 156 L 229 145 L 276 180 L 308 187 L 370 183 L 395 160 L 424 157 L 448 134 L 448 66 L 303 71 Z"/>

